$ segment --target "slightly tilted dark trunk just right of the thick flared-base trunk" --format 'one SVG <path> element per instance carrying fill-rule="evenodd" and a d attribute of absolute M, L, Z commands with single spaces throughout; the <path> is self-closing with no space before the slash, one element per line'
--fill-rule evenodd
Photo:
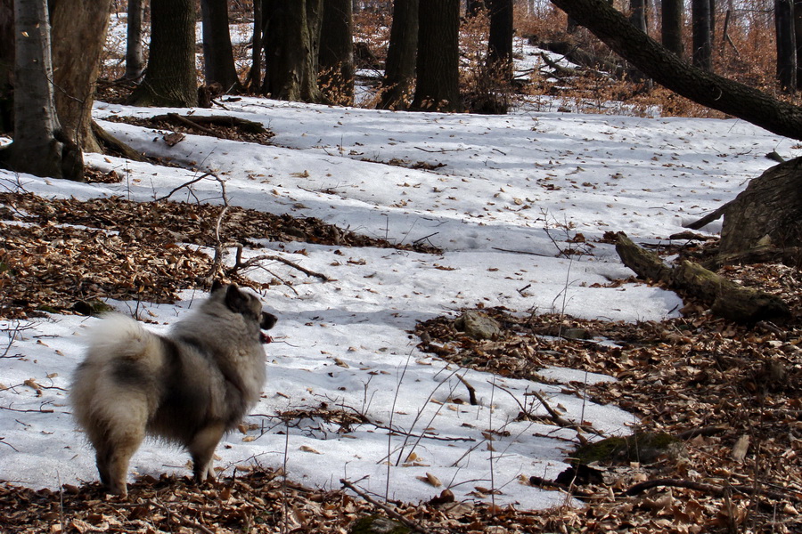
<path fill-rule="evenodd" d="M 201 19 L 206 84 L 220 84 L 225 93 L 240 91 L 228 29 L 228 0 L 201 0 Z"/>

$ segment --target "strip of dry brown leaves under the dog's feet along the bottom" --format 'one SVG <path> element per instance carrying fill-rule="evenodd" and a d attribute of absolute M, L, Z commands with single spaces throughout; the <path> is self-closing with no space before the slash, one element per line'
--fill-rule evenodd
<path fill-rule="evenodd" d="M 551 517 L 511 508 L 388 503 L 424 532 L 543 532 Z M 570 521 L 577 510 L 566 509 Z M 143 477 L 129 486 L 127 500 L 103 493 L 97 483 L 61 491 L 0 485 L 0 531 L 39 532 L 214 532 L 343 533 L 360 517 L 386 511 L 342 490 L 311 490 L 286 481 L 280 472 L 243 467 L 235 478 L 196 487 L 189 478 Z M 487 527 L 491 526 L 488 530 Z"/>

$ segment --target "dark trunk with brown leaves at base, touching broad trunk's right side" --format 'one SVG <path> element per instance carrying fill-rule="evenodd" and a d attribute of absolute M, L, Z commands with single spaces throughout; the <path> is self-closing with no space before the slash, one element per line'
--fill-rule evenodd
<path fill-rule="evenodd" d="M 318 68 L 323 94 L 332 103 L 354 103 L 353 0 L 325 0 Z"/>

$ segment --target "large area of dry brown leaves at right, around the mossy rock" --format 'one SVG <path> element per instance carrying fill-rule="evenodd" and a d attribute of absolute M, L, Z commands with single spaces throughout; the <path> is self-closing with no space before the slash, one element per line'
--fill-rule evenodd
<path fill-rule="evenodd" d="M 638 432 L 687 438 L 678 459 L 611 466 L 605 483 L 576 490 L 589 503 L 577 516 L 581 531 L 802 531 L 802 277 L 782 265 L 719 273 L 782 295 L 792 320 L 746 328 L 694 304 L 682 319 L 636 324 L 493 309 L 485 312 L 505 326 L 502 338 L 476 341 L 439 318 L 420 325 L 421 348 L 503 376 L 543 380 L 536 369 L 550 365 L 615 376 L 566 390 L 633 412 Z M 725 497 L 665 487 L 623 494 L 636 482 L 668 478 L 712 484 Z M 772 491 L 781 498 L 767 497 Z"/>

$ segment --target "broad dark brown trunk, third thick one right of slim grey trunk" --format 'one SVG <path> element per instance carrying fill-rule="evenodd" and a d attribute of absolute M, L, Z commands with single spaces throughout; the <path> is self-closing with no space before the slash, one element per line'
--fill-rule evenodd
<path fill-rule="evenodd" d="M 321 0 L 264 0 L 266 75 L 263 93 L 286 101 L 323 102 L 317 85 Z"/>

